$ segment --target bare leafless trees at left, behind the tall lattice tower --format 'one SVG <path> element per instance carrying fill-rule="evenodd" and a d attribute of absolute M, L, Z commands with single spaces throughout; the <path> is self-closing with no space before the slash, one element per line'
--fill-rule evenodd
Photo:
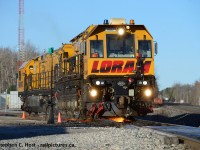
<path fill-rule="evenodd" d="M 38 56 L 38 48 L 30 41 L 25 43 L 25 61 Z M 0 47 L 0 93 L 17 89 L 18 51 L 10 47 Z"/>

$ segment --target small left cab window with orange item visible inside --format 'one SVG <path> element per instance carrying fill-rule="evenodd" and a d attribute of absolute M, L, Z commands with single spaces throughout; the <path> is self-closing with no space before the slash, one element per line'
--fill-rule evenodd
<path fill-rule="evenodd" d="M 90 57 L 91 58 L 103 58 L 103 40 L 91 40 L 90 41 Z"/>

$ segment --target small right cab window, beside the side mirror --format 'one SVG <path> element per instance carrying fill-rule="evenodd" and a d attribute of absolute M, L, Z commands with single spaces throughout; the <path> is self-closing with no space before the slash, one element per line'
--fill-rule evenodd
<path fill-rule="evenodd" d="M 138 50 L 142 57 L 151 58 L 152 49 L 150 40 L 138 40 Z"/>

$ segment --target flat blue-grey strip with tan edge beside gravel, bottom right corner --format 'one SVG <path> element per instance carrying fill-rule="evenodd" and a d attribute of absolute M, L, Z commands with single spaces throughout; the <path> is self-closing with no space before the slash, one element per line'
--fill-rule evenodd
<path fill-rule="evenodd" d="M 143 128 L 151 129 L 158 134 L 167 134 L 164 139 L 166 144 L 185 144 L 186 148 L 192 150 L 200 149 L 200 128 L 177 124 L 155 122 L 150 120 L 136 119 L 141 122 Z M 146 126 L 147 125 L 147 126 Z M 136 124 L 137 126 L 137 124 Z"/>

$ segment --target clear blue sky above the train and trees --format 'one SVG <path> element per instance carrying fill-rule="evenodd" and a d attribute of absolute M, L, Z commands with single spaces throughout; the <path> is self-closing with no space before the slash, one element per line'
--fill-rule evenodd
<path fill-rule="evenodd" d="M 58 48 L 104 19 L 134 19 L 159 44 L 155 70 L 160 89 L 200 80 L 199 0 L 24 1 L 24 38 L 39 51 Z M 0 0 L 0 20 L 0 47 L 17 49 L 18 0 Z"/>

